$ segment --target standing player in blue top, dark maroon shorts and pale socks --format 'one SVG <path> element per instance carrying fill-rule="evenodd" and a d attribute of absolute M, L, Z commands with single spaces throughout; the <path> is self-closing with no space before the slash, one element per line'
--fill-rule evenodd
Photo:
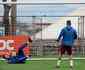
<path fill-rule="evenodd" d="M 61 63 L 61 57 L 63 56 L 63 54 L 65 53 L 65 51 L 67 52 L 67 54 L 69 55 L 69 59 L 70 59 L 70 67 L 73 67 L 73 60 L 72 60 L 72 47 L 73 44 L 75 42 L 75 40 L 77 39 L 77 32 L 76 30 L 71 26 L 71 21 L 67 20 L 66 23 L 66 27 L 64 27 L 61 32 L 60 35 L 57 39 L 57 42 L 59 42 L 61 40 L 62 44 L 60 46 L 60 54 L 59 54 L 59 59 L 57 62 L 57 67 L 60 66 Z"/>

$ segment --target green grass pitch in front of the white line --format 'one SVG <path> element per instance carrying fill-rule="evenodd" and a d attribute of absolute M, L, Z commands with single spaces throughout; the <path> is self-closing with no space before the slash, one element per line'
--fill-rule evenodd
<path fill-rule="evenodd" d="M 85 60 L 74 60 L 73 70 L 85 70 Z M 69 61 L 64 60 L 60 69 L 56 68 L 57 60 L 30 60 L 26 64 L 7 64 L 0 61 L 0 70 L 70 70 Z"/>

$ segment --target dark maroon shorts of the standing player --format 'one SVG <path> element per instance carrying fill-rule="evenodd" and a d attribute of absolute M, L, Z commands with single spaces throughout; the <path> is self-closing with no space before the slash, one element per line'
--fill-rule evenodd
<path fill-rule="evenodd" d="M 65 52 L 67 52 L 68 55 L 72 55 L 72 46 L 61 45 L 59 51 L 61 55 L 65 54 Z"/>

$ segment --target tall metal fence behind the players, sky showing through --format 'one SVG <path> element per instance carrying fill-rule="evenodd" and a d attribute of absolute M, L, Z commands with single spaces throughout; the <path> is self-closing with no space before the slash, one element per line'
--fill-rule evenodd
<path fill-rule="evenodd" d="M 5 27 L 3 25 L 3 11 L 5 10 L 3 5 L 0 4 L 0 35 L 5 35 Z M 10 4 L 7 5 L 11 7 Z M 16 35 L 26 33 L 32 36 L 33 55 L 58 54 L 55 40 L 61 28 L 65 26 L 66 20 L 72 21 L 73 27 L 81 38 L 81 47 L 74 48 L 74 55 L 85 55 L 84 3 L 19 3 L 14 5 L 16 6 L 16 10 L 8 13 L 9 24 L 11 26 L 13 21 L 11 19 L 16 19 Z M 16 13 L 16 15 L 12 15 L 13 13 Z"/>

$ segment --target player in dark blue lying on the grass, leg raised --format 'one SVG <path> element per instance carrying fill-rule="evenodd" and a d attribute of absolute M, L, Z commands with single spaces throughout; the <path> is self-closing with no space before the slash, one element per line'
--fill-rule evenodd
<path fill-rule="evenodd" d="M 9 58 L 5 58 L 8 60 L 8 63 L 25 63 L 25 60 L 27 59 L 27 57 L 25 56 L 23 49 L 27 47 L 27 43 L 21 45 L 21 47 L 19 48 L 18 54 L 17 56 L 10 56 Z"/>

